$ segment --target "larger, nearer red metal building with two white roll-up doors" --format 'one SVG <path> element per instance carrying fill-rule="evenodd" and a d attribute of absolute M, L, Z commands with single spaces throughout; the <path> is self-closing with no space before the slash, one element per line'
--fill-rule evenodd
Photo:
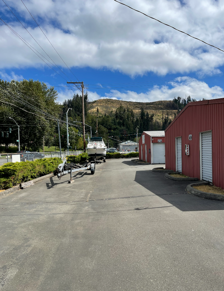
<path fill-rule="evenodd" d="M 224 98 L 188 103 L 165 139 L 167 169 L 224 188 Z"/>

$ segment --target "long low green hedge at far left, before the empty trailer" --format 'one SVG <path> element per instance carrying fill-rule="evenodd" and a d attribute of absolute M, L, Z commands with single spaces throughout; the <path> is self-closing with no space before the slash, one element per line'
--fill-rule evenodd
<path fill-rule="evenodd" d="M 0 189 L 8 189 L 22 182 L 55 172 L 60 158 L 45 158 L 35 161 L 6 163 L 0 167 Z"/>

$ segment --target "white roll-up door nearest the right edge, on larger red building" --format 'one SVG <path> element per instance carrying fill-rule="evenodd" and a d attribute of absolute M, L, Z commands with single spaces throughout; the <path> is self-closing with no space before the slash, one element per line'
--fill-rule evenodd
<path fill-rule="evenodd" d="M 201 133 L 202 180 L 212 182 L 211 131 Z"/>

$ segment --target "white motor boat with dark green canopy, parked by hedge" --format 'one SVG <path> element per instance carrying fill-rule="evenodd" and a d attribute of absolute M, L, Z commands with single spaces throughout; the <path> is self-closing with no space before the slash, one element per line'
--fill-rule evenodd
<path fill-rule="evenodd" d="M 93 161 L 94 159 L 105 160 L 104 157 L 106 157 L 107 147 L 102 137 L 91 137 L 86 151 L 89 156 L 89 161 Z"/>

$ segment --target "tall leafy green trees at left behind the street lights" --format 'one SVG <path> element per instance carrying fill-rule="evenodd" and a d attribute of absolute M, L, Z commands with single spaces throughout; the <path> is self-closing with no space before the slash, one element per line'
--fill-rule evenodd
<path fill-rule="evenodd" d="M 1 145 L 5 145 L 6 150 L 8 150 L 9 144 L 18 145 L 16 142 L 18 127 L 9 117 L 13 118 L 19 125 L 21 150 L 42 150 L 43 136 L 46 146 L 54 145 L 57 122 L 46 114 L 61 119 L 63 109 L 64 106 L 57 102 L 57 91 L 53 87 L 48 88 L 46 84 L 33 80 L 21 82 L 0 80 Z M 9 128 L 11 128 L 11 133 L 9 133 Z M 75 146 L 77 149 L 83 148 L 82 138 L 78 135 L 78 130 L 71 127 L 70 131 L 71 137 L 76 136 L 72 141 L 74 148 Z M 65 125 L 61 126 L 61 134 L 63 133 L 66 136 Z"/>

